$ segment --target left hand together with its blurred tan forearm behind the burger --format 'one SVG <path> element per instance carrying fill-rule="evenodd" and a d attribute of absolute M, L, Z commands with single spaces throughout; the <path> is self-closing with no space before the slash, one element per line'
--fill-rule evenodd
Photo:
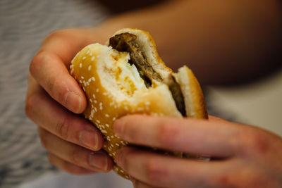
<path fill-rule="evenodd" d="M 231 84 L 256 77 L 275 64 L 266 57 L 281 45 L 278 3 L 168 1 L 118 15 L 97 27 L 51 33 L 30 64 L 25 106 L 27 116 L 39 127 L 49 161 L 74 174 L 108 172 L 113 166 L 100 151 L 102 134 L 79 115 L 87 100 L 68 73 L 71 59 L 82 47 L 104 44 L 123 27 L 137 27 L 153 35 L 169 67 L 187 64 L 202 84 Z"/>

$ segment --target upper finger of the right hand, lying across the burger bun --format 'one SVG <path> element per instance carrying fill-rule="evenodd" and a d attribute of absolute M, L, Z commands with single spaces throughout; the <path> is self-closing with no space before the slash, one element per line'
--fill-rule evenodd
<path fill-rule="evenodd" d="M 220 121 L 146 115 L 128 115 L 114 124 L 115 133 L 133 144 L 216 157 L 234 155 L 240 130 Z"/>

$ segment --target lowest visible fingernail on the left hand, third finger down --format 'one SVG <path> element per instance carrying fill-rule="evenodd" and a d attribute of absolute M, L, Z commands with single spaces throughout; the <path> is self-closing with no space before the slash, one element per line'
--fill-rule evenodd
<path fill-rule="evenodd" d="M 102 151 L 90 153 L 89 164 L 94 168 L 102 170 L 103 172 L 108 171 L 108 158 Z"/>

